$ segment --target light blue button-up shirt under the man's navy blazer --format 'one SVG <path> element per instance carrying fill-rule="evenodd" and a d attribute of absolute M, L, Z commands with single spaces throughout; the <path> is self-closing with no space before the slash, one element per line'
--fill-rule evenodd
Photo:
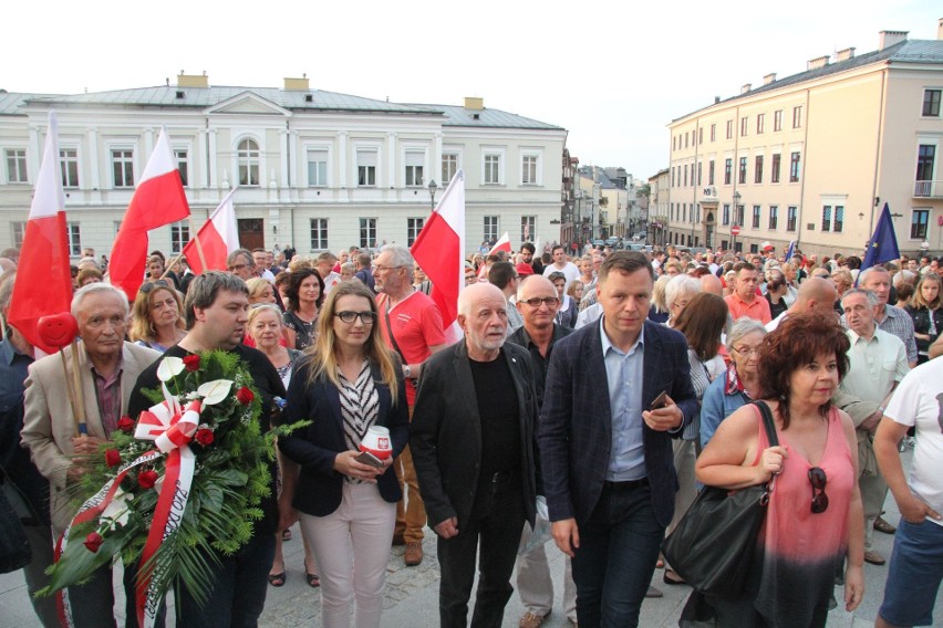
<path fill-rule="evenodd" d="M 605 335 L 605 320 L 600 321 L 602 359 L 609 384 L 609 411 L 612 416 L 612 447 L 605 479 L 610 482 L 641 480 L 645 471 L 645 444 L 642 433 L 642 371 L 644 368 L 644 326 L 628 353 L 623 353 Z"/>

